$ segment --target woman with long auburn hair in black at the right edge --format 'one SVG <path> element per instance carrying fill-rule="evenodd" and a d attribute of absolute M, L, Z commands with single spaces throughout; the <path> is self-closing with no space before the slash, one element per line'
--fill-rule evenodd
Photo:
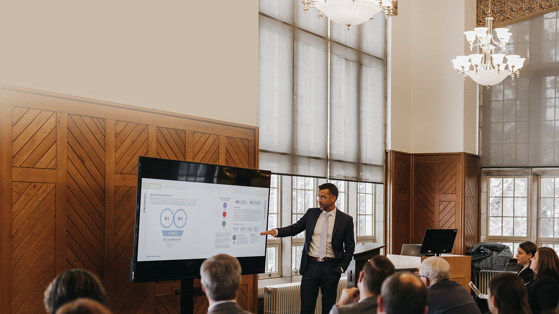
<path fill-rule="evenodd" d="M 533 314 L 556 308 L 559 301 L 559 258 L 551 248 L 539 248 L 532 258 L 530 268 L 536 274 L 526 284 L 528 303 Z"/>

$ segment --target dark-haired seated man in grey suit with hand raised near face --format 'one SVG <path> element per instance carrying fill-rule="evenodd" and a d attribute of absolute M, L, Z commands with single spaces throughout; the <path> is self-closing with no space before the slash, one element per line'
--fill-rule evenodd
<path fill-rule="evenodd" d="M 359 272 L 357 287 L 344 289 L 340 301 L 332 307 L 330 314 L 376 313 L 382 282 L 394 271 L 394 264 L 386 256 L 374 256 Z"/>

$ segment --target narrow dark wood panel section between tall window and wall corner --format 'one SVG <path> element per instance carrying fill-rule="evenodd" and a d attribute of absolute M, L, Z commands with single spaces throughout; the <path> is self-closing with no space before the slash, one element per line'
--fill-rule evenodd
<path fill-rule="evenodd" d="M 385 239 L 388 254 L 411 242 L 411 154 L 388 151 L 386 158 Z"/>

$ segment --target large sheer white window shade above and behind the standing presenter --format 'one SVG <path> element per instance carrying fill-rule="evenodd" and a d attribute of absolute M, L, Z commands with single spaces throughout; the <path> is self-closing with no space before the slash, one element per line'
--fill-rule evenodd
<path fill-rule="evenodd" d="M 385 20 L 349 31 L 332 22 L 329 36 L 315 11 L 305 16 L 299 0 L 260 1 L 259 167 L 382 182 Z"/>

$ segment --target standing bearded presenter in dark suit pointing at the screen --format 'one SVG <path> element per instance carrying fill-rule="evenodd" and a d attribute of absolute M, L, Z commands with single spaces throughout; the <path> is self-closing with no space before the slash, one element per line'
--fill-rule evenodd
<path fill-rule="evenodd" d="M 316 199 L 320 208 L 309 208 L 291 226 L 272 229 L 260 235 L 295 236 L 303 231 L 305 244 L 301 255 L 301 314 L 314 313 L 318 290 L 322 292 L 322 313 L 336 302 L 338 282 L 348 268 L 355 250 L 353 217 L 338 210 L 338 188 L 331 183 L 319 185 Z"/>

